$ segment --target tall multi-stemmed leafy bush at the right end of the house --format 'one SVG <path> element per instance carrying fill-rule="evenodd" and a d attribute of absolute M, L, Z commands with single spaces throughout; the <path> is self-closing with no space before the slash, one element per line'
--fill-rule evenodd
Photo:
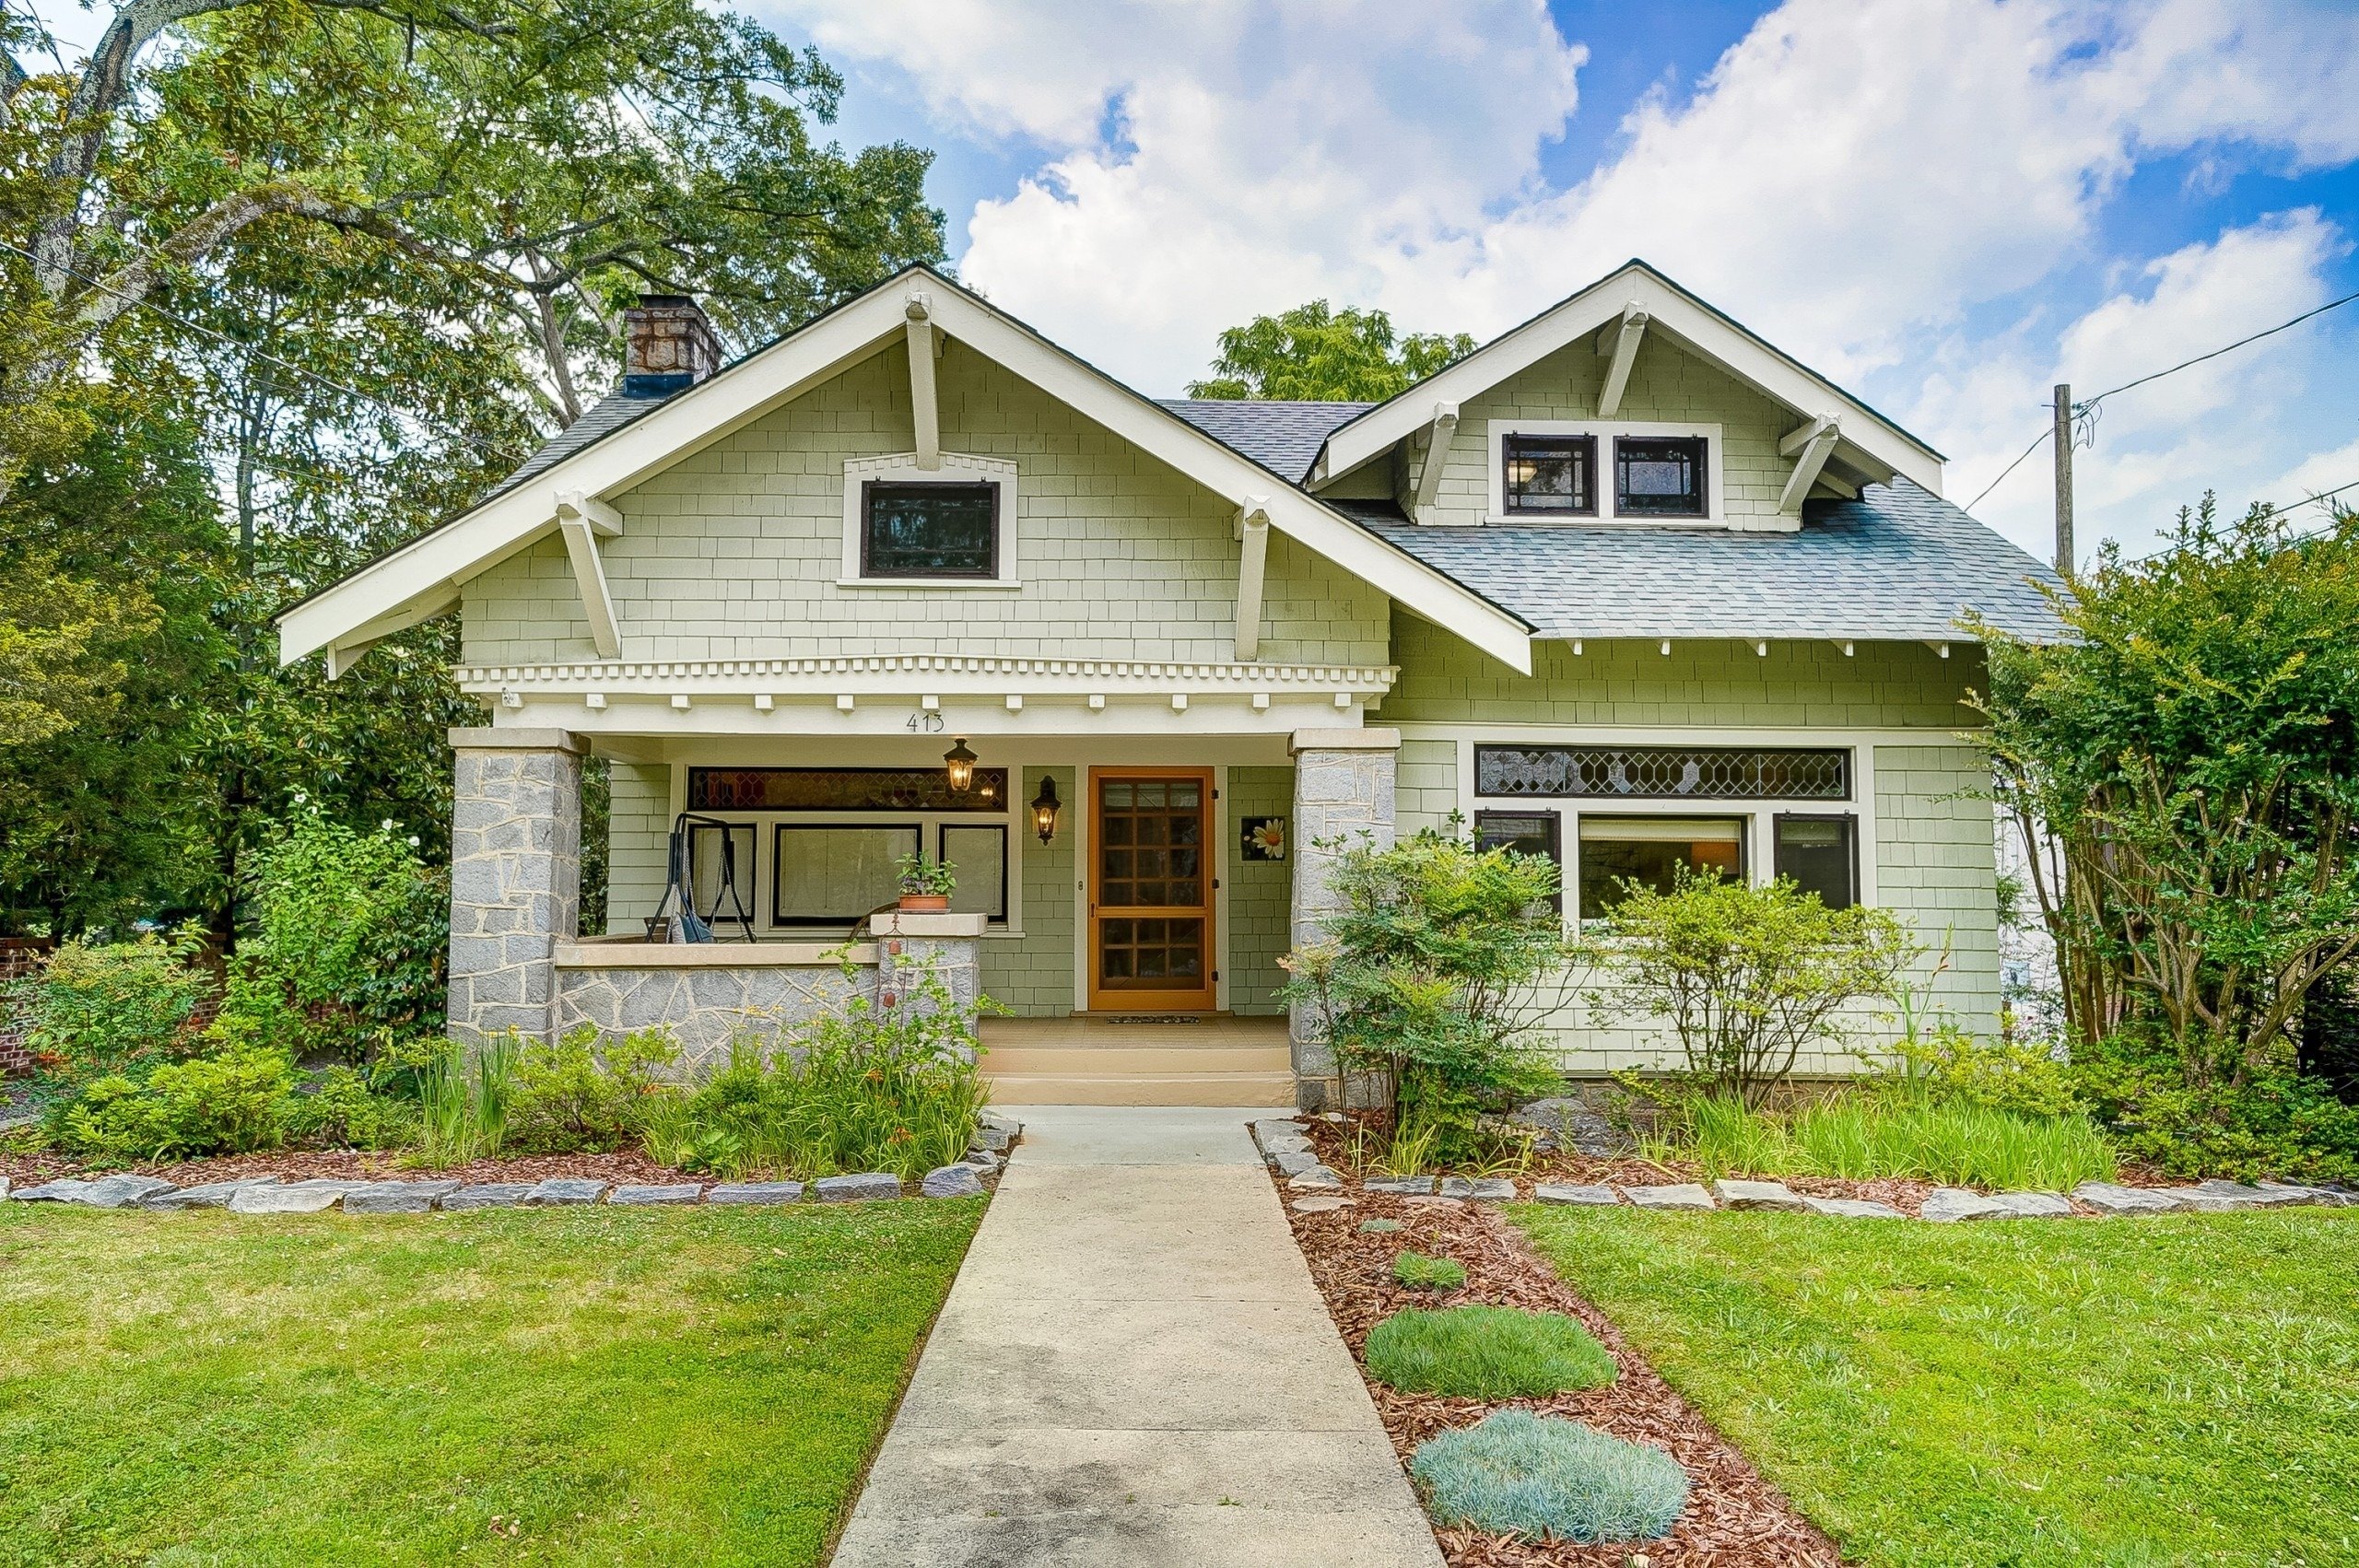
<path fill-rule="evenodd" d="M 1991 627 L 1984 745 L 2057 943 L 2071 1035 L 2154 1028 L 2243 1085 L 2359 953 L 2359 519 L 2180 512 L 2168 549 Z"/>

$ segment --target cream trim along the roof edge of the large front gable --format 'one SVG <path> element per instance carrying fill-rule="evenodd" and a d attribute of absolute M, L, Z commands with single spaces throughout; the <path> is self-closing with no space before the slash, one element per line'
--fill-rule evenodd
<path fill-rule="evenodd" d="M 1517 670 L 1531 667 L 1531 637 L 1522 620 L 1359 528 L 1300 490 L 1293 474 L 1279 474 L 1189 424 L 929 266 L 911 266 L 887 278 L 653 408 L 618 410 L 613 427 L 578 446 L 559 441 L 564 450 L 535 453 L 517 476 L 472 509 L 281 611 L 278 658 L 293 663 L 328 648 L 335 670 L 370 641 L 451 608 L 460 582 L 557 531 L 557 498 L 613 500 L 901 342 L 913 295 L 920 292 L 941 332 L 1062 398 L 1215 495 L 1264 512 L 1272 528 L 1418 615 Z M 599 410 L 611 401 L 599 403 Z M 630 417 L 623 420 L 623 413 Z"/>

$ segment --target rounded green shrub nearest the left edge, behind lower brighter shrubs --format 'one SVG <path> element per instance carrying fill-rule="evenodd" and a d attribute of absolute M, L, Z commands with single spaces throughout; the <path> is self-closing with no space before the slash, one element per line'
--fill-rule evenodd
<path fill-rule="evenodd" d="M 189 960 L 196 934 L 170 941 L 68 941 L 26 988 L 26 1045 L 45 1073 L 78 1085 L 123 1073 L 179 1045 L 212 981 Z"/>

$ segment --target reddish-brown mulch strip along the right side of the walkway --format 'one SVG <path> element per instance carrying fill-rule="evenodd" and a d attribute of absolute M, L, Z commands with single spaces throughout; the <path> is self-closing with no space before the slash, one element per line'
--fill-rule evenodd
<path fill-rule="evenodd" d="M 1651 1179 L 1661 1181 L 1663 1177 L 1654 1174 Z M 1300 1193 L 1286 1193 L 1288 1200 L 1295 1195 Z M 1425 1438 L 1451 1427 L 1472 1427 L 1486 1412 L 1514 1405 L 1588 1422 L 1618 1438 L 1656 1443 L 1687 1467 L 1691 1481 L 1687 1511 L 1658 1542 L 1578 1547 L 1437 1528 L 1434 1537 L 1451 1568 L 1628 1568 L 1635 1554 L 1644 1554 L 1654 1568 L 1833 1568 L 1842 1561 L 1835 1542 L 1795 1514 L 1793 1504 L 1727 1438 L 1713 1431 L 1647 1365 L 1644 1356 L 1630 1349 L 1606 1316 L 1573 1294 L 1496 1212 L 1481 1205 L 1394 1198 L 1356 1188 L 1347 1195 L 1356 1198 L 1356 1207 L 1330 1214 L 1295 1214 L 1288 1207 L 1288 1219 L 1312 1278 L 1326 1297 L 1328 1313 L 1333 1313 L 1354 1358 L 1361 1356 L 1368 1330 L 1404 1306 L 1479 1302 L 1569 1313 L 1597 1335 L 1597 1342 L 1621 1365 L 1621 1375 L 1604 1389 L 1500 1401 L 1498 1405 L 1439 1394 L 1401 1394 L 1368 1379 L 1368 1394 L 1375 1398 L 1375 1410 L 1404 1464 Z M 1364 1236 L 1359 1231 L 1364 1219 L 1399 1219 L 1401 1228 Z M 1465 1287 L 1432 1292 L 1394 1285 L 1392 1257 L 1404 1247 L 1458 1259 L 1467 1271 Z"/>

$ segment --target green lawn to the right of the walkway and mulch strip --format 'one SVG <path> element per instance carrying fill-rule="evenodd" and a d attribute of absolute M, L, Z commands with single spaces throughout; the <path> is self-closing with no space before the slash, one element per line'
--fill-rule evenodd
<path fill-rule="evenodd" d="M 2359 1212 L 1514 1219 L 1845 1561 L 2359 1563 Z"/>

